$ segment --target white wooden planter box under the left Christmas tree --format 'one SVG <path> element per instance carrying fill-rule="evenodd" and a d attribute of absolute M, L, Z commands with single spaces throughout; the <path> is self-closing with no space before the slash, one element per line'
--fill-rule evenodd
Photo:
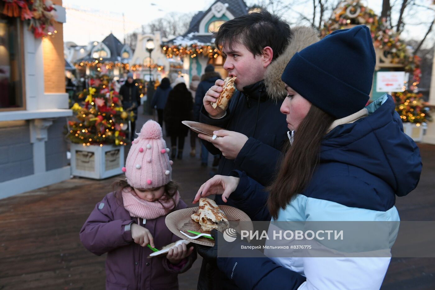
<path fill-rule="evenodd" d="M 71 174 L 104 179 L 122 173 L 124 146 L 71 144 Z"/>

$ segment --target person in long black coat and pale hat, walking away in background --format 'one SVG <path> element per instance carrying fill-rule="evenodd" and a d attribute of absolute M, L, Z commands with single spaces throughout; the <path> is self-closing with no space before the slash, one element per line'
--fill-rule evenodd
<path fill-rule="evenodd" d="M 164 121 L 166 133 L 171 137 L 171 158 L 183 158 L 184 138 L 189 128 L 181 121 L 191 120 L 193 99 L 192 94 L 187 90 L 183 78 L 177 78 L 174 88 L 169 92 L 166 106 L 164 108 Z M 178 142 L 178 153 L 177 152 Z"/>

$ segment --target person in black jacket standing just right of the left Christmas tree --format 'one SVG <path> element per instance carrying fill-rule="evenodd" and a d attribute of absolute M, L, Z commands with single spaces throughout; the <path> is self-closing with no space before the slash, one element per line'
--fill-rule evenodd
<path fill-rule="evenodd" d="M 133 73 L 127 74 L 127 81 L 119 89 L 119 94 L 122 96 L 122 108 L 131 110 L 134 113 L 134 119 L 131 121 L 131 140 L 134 139 L 137 120 L 137 107 L 141 104 L 141 95 L 139 88 L 133 79 Z"/>

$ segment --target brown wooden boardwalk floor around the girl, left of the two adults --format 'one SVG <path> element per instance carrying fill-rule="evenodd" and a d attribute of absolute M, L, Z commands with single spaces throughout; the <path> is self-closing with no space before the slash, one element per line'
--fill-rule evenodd
<path fill-rule="evenodd" d="M 208 172 L 187 154 L 174 162 L 173 176 L 191 204 Z M 104 289 L 105 255 L 84 249 L 78 233 L 115 179 L 73 178 L 0 199 L 0 289 Z M 179 276 L 180 289 L 196 289 L 200 267 L 201 257 Z"/>

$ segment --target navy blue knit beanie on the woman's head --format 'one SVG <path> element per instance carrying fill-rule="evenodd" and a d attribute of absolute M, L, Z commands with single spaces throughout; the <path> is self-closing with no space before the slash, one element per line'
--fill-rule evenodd
<path fill-rule="evenodd" d="M 358 25 L 294 54 L 281 79 L 322 111 L 344 118 L 365 107 L 375 63 L 370 30 Z"/>

